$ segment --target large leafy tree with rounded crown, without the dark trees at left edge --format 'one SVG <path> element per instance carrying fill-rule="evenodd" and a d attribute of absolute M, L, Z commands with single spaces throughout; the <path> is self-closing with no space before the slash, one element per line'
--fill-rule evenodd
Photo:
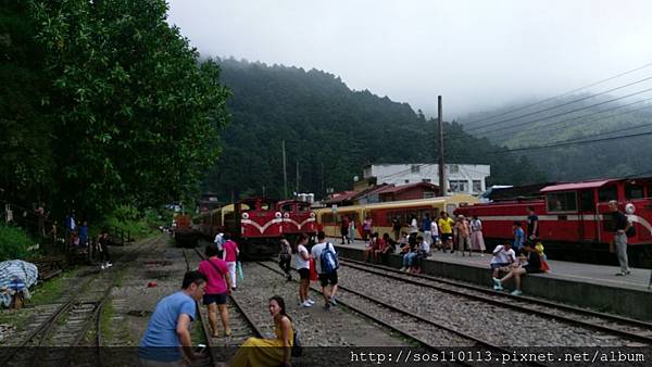
<path fill-rule="evenodd" d="M 220 152 L 228 91 L 165 22 L 165 1 L 30 4 L 52 81 L 59 197 L 99 212 L 195 193 Z"/>

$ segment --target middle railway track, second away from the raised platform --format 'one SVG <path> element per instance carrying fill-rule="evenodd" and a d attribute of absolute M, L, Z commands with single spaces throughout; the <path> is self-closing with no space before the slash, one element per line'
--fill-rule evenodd
<path fill-rule="evenodd" d="M 283 271 L 276 268 L 276 264 L 268 265 L 267 263 L 259 262 L 259 265 L 269 269 L 278 275 L 284 275 Z M 311 284 L 311 289 L 319 294 L 322 291 Z M 443 347 L 474 347 L 474 351 L 499 352 L 499 353 L 512 353 L 500 345 L 496 345 L 480 338 L 476 338 L 471 333 L 466 333 L 454 328 L 450 328 L 441 322 L 432 320 L 421 315 L 408 312 L 400 307 L 396 307 L 380 299 L 364 294 L 356 290 L 339 284 L 339 294 L 343 293 L 341 301 L 338 298 L 338 304 L 344 305 L 349 309 L 392 330 L 393 332 L 401 334 L 409 340 L 414 341 L 423 349 L 436 352 L 446 353 Z M 368 309 L 377 309 L 378 307 L 384 308 L 386 312 L 381 313 L 385 316 L 380 317 L 368 312 Z M 446 341 L 446 344 L 442 342 Z M 475 366 L 471 362 L 456 360 L 456 364 L 464 366 Z M 477 364 L 478 366 L 480 364 Z M 532 364 L 542 366 L 541 364 Z"/>

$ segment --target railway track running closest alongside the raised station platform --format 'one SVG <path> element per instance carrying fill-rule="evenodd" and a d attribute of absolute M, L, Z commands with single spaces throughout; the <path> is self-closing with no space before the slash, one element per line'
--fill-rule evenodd
<path fill-rule="evenodd" d="M 527 314 L 535 314 L 550 319 L 555 319 L 567 325 L 601 331 L 625 338 L 634 342 L 642 343 L 643 345 L 652 345 L 652 324 L 650 322 L 568 306 L 529 296 L 511 295 L 509 293 L 497 292 L 487 288 L 466 284 L 448 279 L 440 279 L 428 275 L 405 274 L 387 266 L 366 264 L 350 258 L 342 258 L 340 265 L 408 283 L 426 287 L 428 289 L 434 289 L 449 294 L 467 298 L 474 301 L 480 301 Z M 631 346 L 643 345 L 635 344 Z"/>

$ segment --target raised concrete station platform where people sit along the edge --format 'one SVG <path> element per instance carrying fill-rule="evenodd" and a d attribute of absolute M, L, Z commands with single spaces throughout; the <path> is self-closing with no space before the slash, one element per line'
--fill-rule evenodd
<path fill-rule="evenodd" d="M 341 256 L 363 260 L 363 241 L 340 244 L 340 239 L 328 239 Z M 614 254 L 615 256 L 615 254 Z M 435 251 L 422 264 L 424 274 L 492 287 L 489 263 L 491 254 L 462 256 Z M 402 257 L 392 254 L 389 265 L 400 268 Z M 548 260 L 550 273 L 531 274 L 522 278 L 522 290 L 526 295 L 560 303 L 590 307 L 641 320 L 652 320 L 652 291 L 650 269 L 631 268 L 631 274 L 616 277 L 617 266 L 593 265 Z M 505 282 L 505 290 L 513 290 L 513 280 Z"/>

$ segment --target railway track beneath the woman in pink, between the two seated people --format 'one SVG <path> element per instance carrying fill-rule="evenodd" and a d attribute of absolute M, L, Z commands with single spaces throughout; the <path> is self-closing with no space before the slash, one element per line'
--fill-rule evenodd
<path fill-rule="evenodd" d="M 188 270 L 191 268 L 197 268 L 199 262 L 205 260 L 204 254 L 202 254 L 197 248 L 195 251 L 188 251 L 188 253 L 186 250 L 184 250 L 184 258 L 186 260 L 186 268 Z M 191 265 L 191 263 L 195 264 Z M 244 309 L 242 302 L 240 302 L 234 294 L 230 294 L 227 300 L 229 327 L 231 329 L 229 337 L 221 336 L 220 338 L 213 338 L 211 327 L 209 325 L 209 315 L 205 307 L 199 303 L 197 304 L 197 314 L 199 315 L 199 320 L 201 322 L 202 334 L 206 341 L 210 366 L 214 366 L 216 363 L 223 360 L 228 360 L 230 358 L 228 352 L 234 351 L 237 346 L 241 345 L 248 338 L 263 337 L 263 332 L 252 321 L 252 318 Z M 217 315 L 217 325 L 221 327 L 222 321 L 220 320 L 220 315 Z"/>

